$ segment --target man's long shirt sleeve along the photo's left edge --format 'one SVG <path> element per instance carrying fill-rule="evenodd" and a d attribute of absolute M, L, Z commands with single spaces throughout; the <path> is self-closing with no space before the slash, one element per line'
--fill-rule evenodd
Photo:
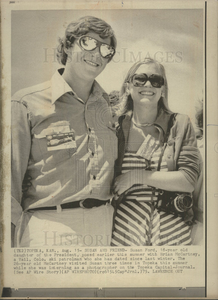
<path fill-rule="evenodd" d="M 16 225 L 22 214 L 22 181 L 31 149 L 31 133 L 27 107 L 11 102 L 11 222 Z"/>

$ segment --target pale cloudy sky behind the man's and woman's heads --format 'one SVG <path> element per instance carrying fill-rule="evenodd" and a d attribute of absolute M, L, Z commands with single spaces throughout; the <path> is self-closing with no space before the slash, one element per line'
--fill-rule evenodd
<path fill-rule="evenodd" d="M 113 28 L 116 54 L 96 78 L 106 92 L 119 90 L 135 61 L 152 57 L 166 70 L 171 110 L 194 118 L 203 89 L 203 10 L 16 10 L 11 18 L 11 91 L 49 80 L 60 67 L 53 52 L 58 36 L 81 16 L 104 19 Z"/>

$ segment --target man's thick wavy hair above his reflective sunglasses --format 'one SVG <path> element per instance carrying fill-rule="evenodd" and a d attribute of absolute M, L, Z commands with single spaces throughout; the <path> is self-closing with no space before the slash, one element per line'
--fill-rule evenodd
<path fill-rule="evenodd" d="M 58 38 L 59 45 L 57 46 L 57 59 L 60 64 L 65 65 L 67 61 L 67 54 L 64 52 L 70 48 L 76 38 L 86 35 L 88 32 L 96 32 L 100 38 L 110 38 L 110 45 L 116 49 L 116 37 L 111 26 L 102 19 L 93 16 L 84 16 L 74 22 L 71 22 L 65 31 L 63 38 Z M 108 59 L 111 61 L 112 57 Z"/>

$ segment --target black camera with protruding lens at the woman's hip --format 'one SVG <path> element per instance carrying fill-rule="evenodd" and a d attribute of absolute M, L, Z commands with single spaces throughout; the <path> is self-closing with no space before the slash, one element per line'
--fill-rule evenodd
<path fill-rule="evenodd" d="M 159 190 L 157 209 L 170 214 L 184 217 L 193 205 L 193 199 L 190 193 L 169 192 Z"/>

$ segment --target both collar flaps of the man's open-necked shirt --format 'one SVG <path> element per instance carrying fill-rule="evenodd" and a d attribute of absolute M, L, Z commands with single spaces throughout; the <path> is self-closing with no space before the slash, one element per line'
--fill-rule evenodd
<path fill-rule="evenodd" d="M 52 104 L 60 98 L 62 95 L 64 95 L 67 92 L 73 92 L 74 95 L 75 92 L 72 90 L 72 88 L 69 86 L 68 83 L 63 79 L 61 76 L 63 74 L 64 68 L 56 70 L 54 75 L 51 79 L 51 86 L 52 86 Z M 104 93 L 104 90 L 99 85 L 99 83 L 94 80 L 93 87 L 92 87 L 92 93 L 90 96 L 96 96 L 97 99 L 100 99 Z"/>

